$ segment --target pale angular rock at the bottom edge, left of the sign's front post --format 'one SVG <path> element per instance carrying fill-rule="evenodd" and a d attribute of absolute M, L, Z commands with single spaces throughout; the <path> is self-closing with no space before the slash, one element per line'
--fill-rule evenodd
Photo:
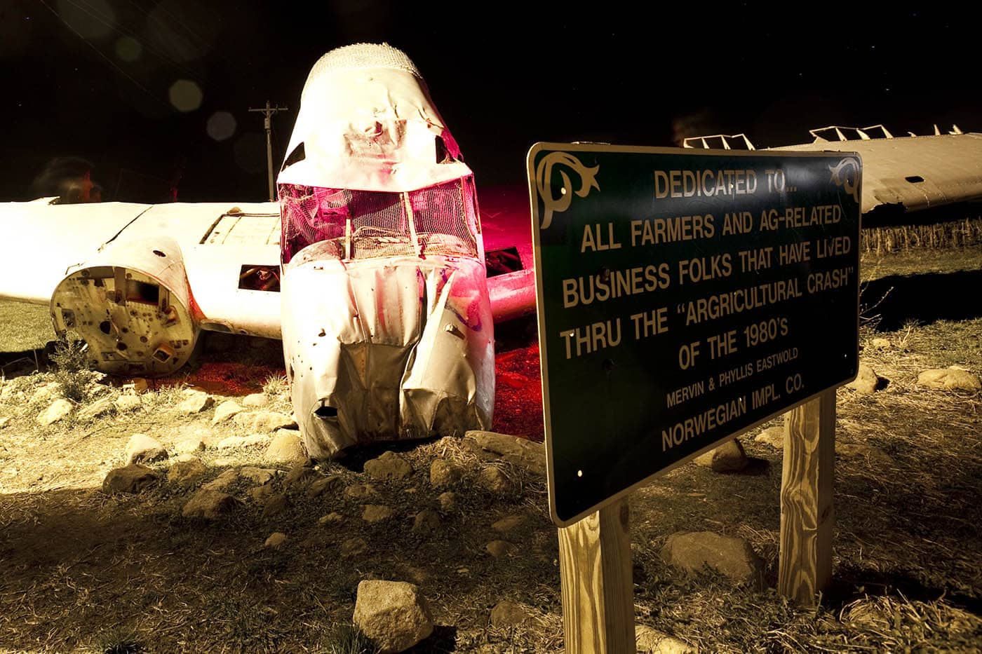
<path fill-rule="evenodd" d="M 379 652 L 403 652 L 433 632 L 426 600 L 405 581 L 358 583 L 355 625 Z"/>

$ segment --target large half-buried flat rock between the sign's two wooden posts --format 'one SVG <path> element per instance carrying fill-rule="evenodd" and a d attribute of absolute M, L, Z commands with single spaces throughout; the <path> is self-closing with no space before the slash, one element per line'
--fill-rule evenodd
<path fill-rule="evenodd" d="M 764 587 L 763 562 L 742 538 L 712 531 L 680 531 L 669 536 L 661 556 L 666 563 L 686 572 L 708 567 L 736 583 L 758 590 Z"/>

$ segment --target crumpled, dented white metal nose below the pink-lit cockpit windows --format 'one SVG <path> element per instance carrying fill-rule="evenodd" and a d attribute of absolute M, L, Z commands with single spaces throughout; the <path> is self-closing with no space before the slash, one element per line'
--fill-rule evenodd
<path fill-rule="evenodd" d="M 287 266 L 283 349 L 307 454 L 491 426 L 494 334 L 479 261 L 321 258 Z M 316 301 L 311 299 L 316 298 Z"/>

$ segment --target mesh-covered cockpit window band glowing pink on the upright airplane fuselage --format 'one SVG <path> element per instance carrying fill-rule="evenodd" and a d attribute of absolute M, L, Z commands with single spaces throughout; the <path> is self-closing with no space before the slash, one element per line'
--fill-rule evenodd
<path fill-rule="evenodd" d="M 324 258 L 480 257 L 471 176 L 408 192 L 349 191 L 280 185 L 281 259 L 323 244 Z"/>

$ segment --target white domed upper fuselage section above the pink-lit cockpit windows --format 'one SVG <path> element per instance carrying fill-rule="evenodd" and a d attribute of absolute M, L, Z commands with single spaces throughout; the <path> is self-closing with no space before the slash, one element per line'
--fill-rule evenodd
<path fill-rule="evenodd" d="M 409 57 L 356 43 L 321 57 L 300 95 L 279 184 L 413 191 L 470 175 Z"/>

